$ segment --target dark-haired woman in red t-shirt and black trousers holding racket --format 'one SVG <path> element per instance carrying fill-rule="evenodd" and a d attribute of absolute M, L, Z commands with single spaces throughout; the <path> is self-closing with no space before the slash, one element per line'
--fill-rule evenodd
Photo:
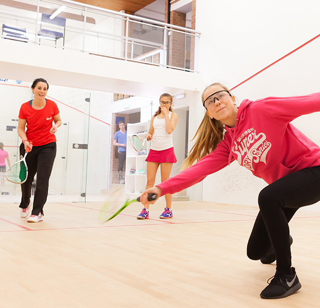
<path fill-rule="evenodd" d="M 47 201 L 49 178 L 57 152 L 57 140 L 54 134 L 62 123 L 58 106 L 53 101 L 46 99 L 48 89 L 49 85 L 46 80 L 42 78 L 34 80 L 31 86 L 34 98 L 22 104 L 18 117 L 17 131 L 22 139 L 21 157 L 25 155 L 28 147 L 31 149 L 26 157 L 28 178 L 21 185 L 20 216 L 22 218 L 29 215 L 31 185 L 37 174 L 33 208 L 28 222 L 43 220 L 43 207 Z"/>

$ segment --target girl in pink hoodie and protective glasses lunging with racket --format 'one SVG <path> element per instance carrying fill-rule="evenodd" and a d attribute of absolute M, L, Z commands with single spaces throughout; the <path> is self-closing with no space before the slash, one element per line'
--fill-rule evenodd
<path fill-rule="evenodd" d="M 291 267 L 288 223 L 298 208 L 320 200 L 320 148 L 290 122 L 320 111 L 320 93 L 244 100 L 237 107 L 228 88 L 215 83 L 204 90 L 202 102 L 206 114 L 185 161 L 189 168 L 144 191 L 142 203 L 150 203 L 151 192 L 174 194 L 237 160 L 269 184 L 260 191 L 260 211 L 247 247 L 250 259 L 277 263 L 260 297 L 289 296 L 301 284 Z"/>

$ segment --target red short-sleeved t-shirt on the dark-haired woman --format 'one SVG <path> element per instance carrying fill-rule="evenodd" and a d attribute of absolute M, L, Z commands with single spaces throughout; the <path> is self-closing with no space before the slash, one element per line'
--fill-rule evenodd
<path fill-rule="evenodd" d="M 27 120 L 26 135 L 32 145 L 40 146 L 56 142 L 54 134 L 50 133 L 53 116 L 59 114 L 57 104 L 46 99 L 46 105 L 41 110 L 35 110 L 30 106 L 30 101 L 21 105 L 19 119 Z"/>

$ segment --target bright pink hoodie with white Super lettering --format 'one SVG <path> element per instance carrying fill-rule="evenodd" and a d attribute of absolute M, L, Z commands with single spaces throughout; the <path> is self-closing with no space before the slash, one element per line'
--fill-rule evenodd
<path fill-rule="evenodd" d="M 157 185 L 161 196 L 190 187 L 234 160 L 268 184 L 300 169 L 320 165 L 320 148 L 290 122 L 320 111 L 320 93 L 291 98 L 244 100 L 236 125 L 193 166 Z"/>

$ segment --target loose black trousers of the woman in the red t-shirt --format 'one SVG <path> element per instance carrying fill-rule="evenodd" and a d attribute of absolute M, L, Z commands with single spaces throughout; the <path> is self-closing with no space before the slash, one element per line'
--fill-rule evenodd
<path fill-rule="evenodd" d="M 30 151 L 26 157 L 28 178 L 26 182 L 21 184 L 22 198 L 20 207 L 28 207 L 31 197 L 31 185 L 35 174 L 37 174 L 32 215 L 39 215 L 39 213 L 43 214 L 43 206 L 48 197 L 49 179 L 56 152 L 57 144 L 51 142 L 46 145 L 32 147 L 32 151 Z M 24 154 L 25 147 L 21 144 L 20 155 L 24 156 Z"/>

